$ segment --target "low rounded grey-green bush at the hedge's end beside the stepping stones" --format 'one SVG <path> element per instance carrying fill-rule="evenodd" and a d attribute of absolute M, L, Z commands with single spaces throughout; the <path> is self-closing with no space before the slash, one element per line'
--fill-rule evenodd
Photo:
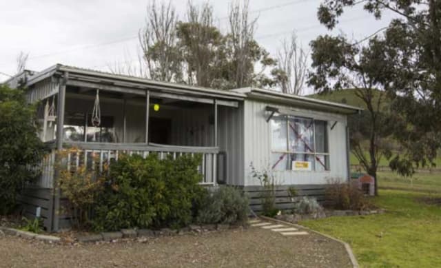
<path fill-rule="evenodd" d="M 220 186 L 207 192 L 198 211 L 198 223 L 243 224 L 247 220 L 248 198 L 240 189 Z"/>

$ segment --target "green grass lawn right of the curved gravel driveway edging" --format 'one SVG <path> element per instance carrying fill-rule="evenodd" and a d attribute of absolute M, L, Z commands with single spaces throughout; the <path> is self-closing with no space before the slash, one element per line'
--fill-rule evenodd
<path fill-rule="evenodd" d="M 422 196 L 441 197 L 384 189 L 374 203 L 386 214 L 300 224 L 345 240 L 362 267 L 441 267 L 441 207 L 418 202 Z"/>

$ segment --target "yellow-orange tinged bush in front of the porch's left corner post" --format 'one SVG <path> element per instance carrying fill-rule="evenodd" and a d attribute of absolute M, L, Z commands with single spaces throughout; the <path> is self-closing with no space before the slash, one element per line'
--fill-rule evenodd
<path fill-rule="evenodd" d="M 76 154 L 79 152 L 76 148 L 63 150 L 58 154 L 59 159 L 65 159 L 68 153 Z M 98 159 L 95 163 L 99 163 Z M 57 163 L 59 169 L 59 187 L 63 196 L 68 198 L 69 211 L 72 210 L 73 225 L 78 228 L 85 228 L 90 225 L 90 212 L 92 205 L 96 202 L 96 197 L 103 190 L 104 177 L 99 172 L 99 168 L 94 170 L 87 169 L 85 165 L 80 165 L 74 171 L 68 171 L 63 168 L 61 163 Z M 107 171 L 105 167 L 103 173 Z"/>

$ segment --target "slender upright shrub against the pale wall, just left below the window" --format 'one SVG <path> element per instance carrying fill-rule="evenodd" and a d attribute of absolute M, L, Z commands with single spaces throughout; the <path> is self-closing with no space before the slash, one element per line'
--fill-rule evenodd
<path fill-rule="evenodd" d="M 268 217 L 276 216 L 279 210 L 276 208 L 276 183 L 274 176 L 272 176 L 272 174 L 266 169 L 259 172 L 253 164 L 251 164 L 250 167 L 252 177 L 258 179 L 260 186 L 263 188 L 262 194 L 260 194 L 260 200 L 262 201 L 262 214 Z"/>

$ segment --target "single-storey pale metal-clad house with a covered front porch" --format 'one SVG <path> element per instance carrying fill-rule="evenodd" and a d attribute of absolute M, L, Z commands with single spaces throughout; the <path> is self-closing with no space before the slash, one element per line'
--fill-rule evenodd
<path fill-rule="evenodd" d="M 322 198 L 330 178 L 349 180 L 347 115 L 360 111 L 340 103 L 257 88 L 214 90 L 54 65 L 25 71 L 8 81 L 28 89 L 39 103 L 41 139 L 52 148 L 39 181 L 21 196 L 25 213 L 41 207 L 45 227 L 70 225 L 59 211 L 63 198 L 54 157 L 64 147 L 68 168 L 86 163 L 100 169 L 122 153 L 203 154 L 203 185 L 236 185 L 260 209 L 260 182 L 267 170 L 278 185 L 276 199 L 288 208 L 287 187 Z M 99 156 L 99 163 L 92 163 Z M 252 167 L 251 167 L 252 166 Z"/>

